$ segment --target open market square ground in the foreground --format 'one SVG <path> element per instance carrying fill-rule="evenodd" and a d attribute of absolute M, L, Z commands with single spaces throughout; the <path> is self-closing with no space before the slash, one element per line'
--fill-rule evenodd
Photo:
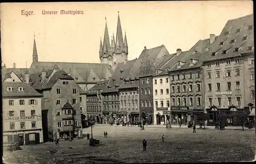
<path fill-rule="evenodd" d="M 241 127 L 238 127 L 241 128 Z M 108 137 L 104 137 L 104 131 Z M 91 128 L 83 129 L 83 135 Z M 165 135 L 165 142 L 161 136 Z M 93 138 L 100 144 L 89 146 L 87 137 L 72 142 L 47 142 L 20 146 L 23 150 L 4 151 L 9 163 L 130 163 L 130 162 L 235 162 L 255 157 L 255 130 L 214 128 L 94 125 Z M 147 149 L 143 151 L 142 140 Z M 71 148 L 69 148 L 71 147 Z M 50 150 L 57 150 L 51 153 Z"/>

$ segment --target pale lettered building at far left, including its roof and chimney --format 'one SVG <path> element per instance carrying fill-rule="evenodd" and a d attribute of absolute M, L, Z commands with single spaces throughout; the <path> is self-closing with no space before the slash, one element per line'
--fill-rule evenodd
<path fill-rule="evenodd" d="M 3 143 L 19 145 L 43 142 L 41 97 L 29 84 L 11 72 L 3 78 Z"/>

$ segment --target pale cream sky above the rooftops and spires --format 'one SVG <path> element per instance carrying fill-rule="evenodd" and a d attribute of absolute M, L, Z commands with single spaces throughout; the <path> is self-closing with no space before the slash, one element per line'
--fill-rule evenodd
<path fill-rule="evenodd" d="M 22 15 L 22 10 L 33 15 Z M 42 10 L 57 11 L 44 15 Z M 83 14 L 62 15 L 60 10 Z M 100 63 L 100 38 L 105 21 L 110 39 L 118 11 L 129 46 L 128 60 L 147 49 L 165 45 L 170 54 L 189 50 L 198 40 L 219 35 L 227 20 L 253 13 L 252 1 L 1 3 L 2 65 L 32 63 L 34 34 L 38 61 Z M 106 17 L 106 20 L 105 20 Z"/>

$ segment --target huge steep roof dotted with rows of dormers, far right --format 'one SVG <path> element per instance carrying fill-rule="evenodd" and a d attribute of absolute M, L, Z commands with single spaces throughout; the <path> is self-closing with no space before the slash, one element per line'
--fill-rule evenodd
<path fill-rule="evenodd" d="M 202 55 L 204 57 L 203 62 L 254 52 L 253 49 L 248 50 L 249 46 L 254 46 L 253 27 L 249 29 L 249 26 L 253 26 L 253 14 L 228 20 L 220 36 L 210 45 L 210 49 Z M 239 29 L 240 32 L 238 31 Z M 225 35 L 225 33 L 228 34 Z M 243 40 L 243 37 L 247 37 L 247 39 Z M 233 39 L 236 40 L 234 40 L 234 43 L 231 43 Z M 223 41 L 223 45 L 220 45 Z M 239 52 L 235 51 L 236 48 L 240 48 Z M 227 51 L 226 54 L 223 54 L 223 51 Z M 213 52 L 217 52 L 217 54 L 212 56 Z"/>

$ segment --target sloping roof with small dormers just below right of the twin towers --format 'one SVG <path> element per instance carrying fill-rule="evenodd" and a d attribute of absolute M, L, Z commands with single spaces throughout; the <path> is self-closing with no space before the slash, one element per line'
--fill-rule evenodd
<path fill-rule="evenodd" d="M 133 59 L 133 60 L 126 61 L 126 63 L 125 62 L 118 63 L 117 67 L 114 71 L 114 74 L 112 75 L 112 77 L 108 83 L 108 86 L 103 88 L 103 92 L 118 91 L 118 87 L 121 85 L 121 83 L 127 77 L 131 68 L 133 67 L 134 63 L 137 60 L 138 59 Z"/>

